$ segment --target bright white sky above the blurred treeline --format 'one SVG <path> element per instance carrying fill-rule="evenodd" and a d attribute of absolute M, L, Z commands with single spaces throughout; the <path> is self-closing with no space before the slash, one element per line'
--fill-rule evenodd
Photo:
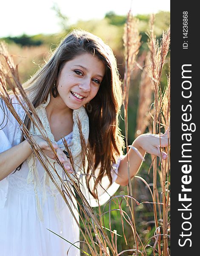
<path fill-rule="evenodd" d="M 132 5 L 131 5 L 132 2 Z M 77 20 L 103 19 L 107 12 L 133 15 L 170 11 L 170 0 L 4 0 L 1 3 L 0 38 L 6 36 L 54 34 L 61 27 L 54 3 L 73 24 Z"/>

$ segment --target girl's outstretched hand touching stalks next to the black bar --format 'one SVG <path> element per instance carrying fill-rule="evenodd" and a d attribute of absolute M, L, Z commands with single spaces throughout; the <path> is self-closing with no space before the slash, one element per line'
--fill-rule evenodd
<path fill-rule="evenodd" d="M 169 136 L 169 137 L 168 137 Z M 141 134 L 135 140 L 137 145 L 134 145 L 139 151 L 141 147 L 144 151 L 149 154 L 156 155 L 158 157 L 162 156 L 163 160 L 168 158 L 168 154 L 164 151 L 161 151 L 160 155 L 160 147 L 165 148 L 170 145 L 170 132 L 167 129 L 164 134 Z"/>

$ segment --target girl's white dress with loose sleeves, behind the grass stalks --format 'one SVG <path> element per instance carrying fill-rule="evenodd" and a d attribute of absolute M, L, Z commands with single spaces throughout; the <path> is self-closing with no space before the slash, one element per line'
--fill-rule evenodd
<path fill-rule="evenodd" d="M 13 104 L 15 110 L 23 119 L 23 110 L 20 105 Z M 2 103 L 0 103 L 0 153 L 6 151 L 14 145 L 20 143 L 21 131 L 11 113 L 3 104 L 8 118 L 3 118 Z M 7 114 L 8 113 L 8 114 Z M 70 143 L 73 132 L 65 138 Z M 57 142 L 61 143 L 61 140 Z M 12 159 L 10 159 L 12 160 Z M 120 158 L 117 164 L 118 169 Z M 44 169 L 37 160 L 37 169 L 40 182 L 43 184 Z M 57 210 L 55 212 L 55 198 L 47 189 L 47 199 L 43 204 L 43 221 L 39 221 L 37 214 L 37 205 L 34 192 L 34 184 L 27 184 L 27 175 L 29 169 L 25 161 L 20 169 L 11 173 L 8 177 L 0 181 L 0 256 L 66 256 L 66 252 L 71 246 L 68 242 L 51 233 L 62 236 L 71 243 L 79 241 L 79 228 L 71 215 L 63 198 L 57 192 Z M 113 184 L 107 189 L 109 195 L 113 195 L 119 185 L 114 182 L 116 173 L 112 173 Z M 104 188 L 108 187 L 109 180 L 104 178 Z M 37 195 L 42 202 L 42 189 L 37 190 Z M 100 195 L 100 204 L 104 204 L 109 199 L 106 192 Z M 71 201 L 69 204 L 72 206 Z M 94 199 L 91 199 L 92 207 L 97 206 Z M 74 214 L 78 213 L 74 210 Z M 49 230 L 47 230 L 49 229 Z M 76 246 L 80 246 L 77 242 Z M 69 256 L 79 256 L 80 250 L 71 246 Z"/>

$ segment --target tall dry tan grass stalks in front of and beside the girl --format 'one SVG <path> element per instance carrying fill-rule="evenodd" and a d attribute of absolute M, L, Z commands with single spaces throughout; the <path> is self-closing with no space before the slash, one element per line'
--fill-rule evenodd
<path fill-rule="evenodd" d="M 123 107 L 125 116 L 125 137 L 126 137 L 126 148 L 128 149 L 128 104 L 129 104 L 129 86 L 130 77 L 134 76 L 131 74 L 133 66 L 137 61 L 137 53 L 140 48 L 140 35 L 137 29 L 138 21 L 132 17 L 131 12 L 128 14 L 127 23 L 124 30 L 124 47 L 125 47 L 125 76 L 123 82 Z M 140 81 L 139 90 L 139 106 L 137 111 L 137 135 L 143 133 L 146 130 L 153 133 L 161 133 L 166 131 L 170 126 L 170 74 L 168 74 L 168 84 L 165 88 L 162 87 L 161 75 L 163 65 L 166 62 L 166 56 L 169 51 L 169 36 L 170 30 L 163 32 L 163 38 L 161 42 L 157 41 L 154 36 L 154 18 L 151 18 L 150 32 L 149 32 L 149 54 L 146 57 L 146 61 L 143 67 L 143 73 Z M 79 212 L 80 222 L 77 221 L 77 225 L 80 228 L 82 241 L 80 243 L 80 251 L 82 255 L 91 256 L 120 256 L 120 255 L 141 255 L 141 256 L 169 256 L 169 232 L 170 232 L 170 219 L 169 219 L 169 205 L 170 205 L 170 164 L 168 161 L 163 161 L 157 157 L 151 156 L 149 166 L 145 166 L 149 171 L 153 172 L 153 190 L 151 185 L 143 177 L 136 176 L 135 180 L 139 180 L 148 189 L 149 200 L 141 201 L 133 197 L 134 186 L 130 179 L 129 174 L 129 186 L 128 193 L 123 195 L 114 195 L 110 200 L 103 206 L 97 208 L 91 208 L 86 198 L 80 190 L 80 176 L 74 173 L 73 178 L 63 168 L 63 177 L 60 177 L 57 173 L 55 166 L 51 165 L 51 170 L 46 165 L 48 158 L 43 154 L 42 150 L 35 150 L 35 143 L 31 140 L 31 135 L 26 129 L 25 125 L 17 115 L 13 106 L 11 105 L 10 96 L 7 91 L 9 87 L 14 95 L 17 97 L 20 105 L 23 106 L 24 111 L 29 115 L 31 121 L 40 130 L 43 137 L 48 141 L 51 149 L 54 148 L 51 145 L 51 141 L 47 137 L 46 131 L 43 128 L 43 124 L 37 116 L 37 113 L 26 96 L 23 87 L 20 83 L 19 75 L 17 72 L 17 66 L 14 64 L 13 58 L 9 55 L 5 44 L 0 44 L 0 55 L 1 55 L 1 66 L 0 66 L 0 96 L 5 101 L 7 107 L 20 124 L 26 139 L 31 145 L 34 154 L 36 154 L 40 163 L 44 167 L 45 171 L 51 178 L 54 185 L 57 187 L 63 200 L 69 207 L 71 214 L 76 219 L 74 209 L 70 207 L 69 200 L 77 202 L 77 211 Z M 22 99 L 18 96 L 17 90 L 20 91 Z M 24 102 L 28 108 L 24 107 Z M 32 115 L 30 114 L 32 113 Z M 86 175 L 85 168 L 87 162 L 90 169 L 94 169 L 93 157 L 85 143 L 83 134 L 81 132 L 81 123 L 77 120 L 81 145 L 83 152 L 83 170 L 82 176 Z M 170 128 L 168 130 L 170 132 Z M 137 136 L 136 135 L 136 136 Z M 63 143 L 66 150 L 70 152 L 68 145 L 65 140 Z M 168 147 L 169 148 L 169 147 Z M 160 148 L 161 150 L 161 148 Z M 169 149 L 167 149 L 169 154 Z M 56 152 L 54 151 L 56 160 L 60 166 L 63 167 L 62 163 L 59 162 Z M 41 157 L 42 155 L 43 157 Z M 45 159 L 46 161 L 44 161 Z M 73 158 L 71 157 L 71 165 L 74 166 Z M 147 162 L 147 161 L 146 161 Z M 141 169 L 144 167 L 142 166 Z M 127 172 L 129 173 L 129 161 L 127 164 Z M 94 177 L 95 178 L 95 177 Z M 67 182 L 66 180 L 70 180 Z M 72 186 L 76 193 L 73 193 Z M 160 191 L 161 189 L 161 191 Z M 138 233 L 138 207 L 141 206 L 153 206 L 153 222 L 154 228 L 151 225 L 150 236 L 143 236 Z M 74 207 L 75 204 L 74 204 Z M 148 209 L 151 209 L 149 207 Z M 143 215 L 143 212 L 141 215 Z M 117 218 L 118 226 L 120 229 L 116 230 L 115 219 Z M 140 217 L 143 219 L 143 217 Z M 127 233 L 129 230 L 129 233 Z M 152 231 L 154 232 L 152 234 Z M 53 232 L 53 230 L 51 230 Z M 133 237 L 134 242 L 130 243 L 130 237 Z M 64 239 L 64 238 L 60 238 Z M 146 239 L 146 240 L 145 240 Z M 119 244 L 124 240 L 126 246 L 119 251 Z M 66 241 L 69 242 L 69 241 Z M 77 241 L 78 242 L 78 241 Z M 71 246 L 77 246 L 76 244 Z M 70 249 L 69 249 L 70 252 Z"/>

